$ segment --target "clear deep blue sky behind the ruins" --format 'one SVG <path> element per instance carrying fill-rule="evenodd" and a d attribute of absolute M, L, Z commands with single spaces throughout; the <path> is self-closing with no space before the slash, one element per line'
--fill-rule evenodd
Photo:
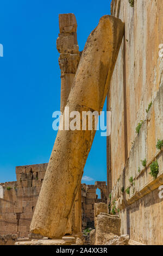
<path fill-rule="evenodd" d="M 0 7 L 0 182 L 16 180 L 15 166 L 48 162 L 57 135 L 52 113 L 60 109 L 60 69 L 56 39 L 58 15 L 74 13 L 78 44 L 101 16 L 110 14 L 110 2 L 5 0 Z M 106 108 L 106 103 L 104 109 Z M 83 180 L 106 180 L 106 137 L 96 133 Z"/>

